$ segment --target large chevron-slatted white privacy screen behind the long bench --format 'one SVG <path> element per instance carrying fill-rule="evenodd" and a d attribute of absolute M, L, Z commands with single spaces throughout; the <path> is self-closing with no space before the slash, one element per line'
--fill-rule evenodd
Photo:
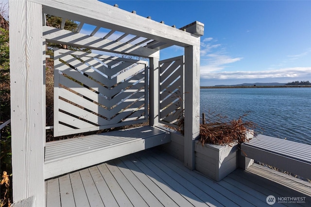
<path fill-rule="evenodd" d="M 147 121 L 148 62 L 55 49 L 54 137 Z"/>

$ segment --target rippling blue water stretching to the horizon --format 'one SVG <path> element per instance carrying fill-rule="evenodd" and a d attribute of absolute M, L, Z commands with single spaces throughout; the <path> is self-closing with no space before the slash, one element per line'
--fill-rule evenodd
<path fill-rule="evenodd" d="M 311 145 L 311 87 L 201 88 L 200 112 L 257 123 L 263 135 Z"/>

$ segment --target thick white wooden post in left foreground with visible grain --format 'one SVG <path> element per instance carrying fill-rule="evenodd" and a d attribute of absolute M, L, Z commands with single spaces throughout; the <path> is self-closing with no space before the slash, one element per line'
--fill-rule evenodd
<path fill-rule="evenodd" d="M 44 207 L 45 114 L 42 6 L 10 0 L 13 202 Z"/>

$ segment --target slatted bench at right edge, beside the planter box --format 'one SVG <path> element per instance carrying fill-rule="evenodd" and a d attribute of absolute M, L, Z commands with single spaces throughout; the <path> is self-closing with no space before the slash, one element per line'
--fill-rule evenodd
<path fill-rule="evenodd" d="M 311 145 L 258 135 L 241 145 L 241 155 L 311 179 Z"/>

